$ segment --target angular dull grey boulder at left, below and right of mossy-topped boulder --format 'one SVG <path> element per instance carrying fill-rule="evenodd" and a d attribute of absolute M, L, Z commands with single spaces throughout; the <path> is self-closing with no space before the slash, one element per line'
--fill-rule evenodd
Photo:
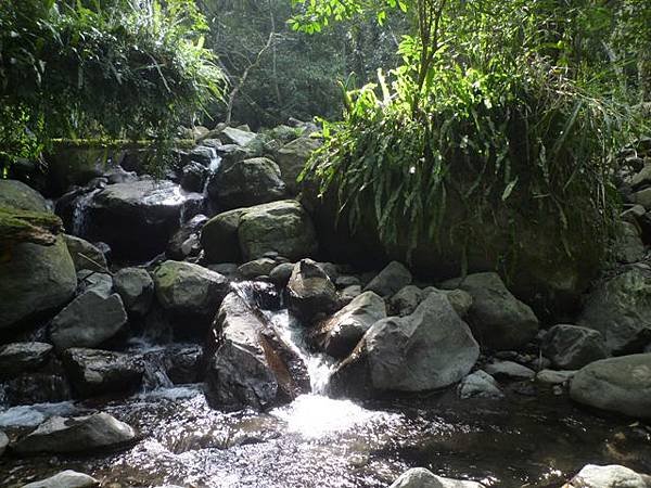
<path fill-rule="evenodd" d="M 90 290 L 65 307 L 50 325 L 50 337 L 58 350 L 95 347 L 117 334 L 127 323 L 122 298 L 107 297 Z"/>

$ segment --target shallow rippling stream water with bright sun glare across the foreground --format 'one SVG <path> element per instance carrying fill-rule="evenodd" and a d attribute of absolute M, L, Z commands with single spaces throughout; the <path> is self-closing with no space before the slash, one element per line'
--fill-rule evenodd
<path fill-rule="evenodd" d="M 224 413 L 192 385 L 76 407 L 105 410 L 142 437 L 125 451 L 81 459 L 5 458 L 1 486 L 64 468 L 112 488 L 385 487 L 411 466 L 503 487 L 560 486 L 587 463 L 651 472 L 647 426 L 596 416 L 551 394 L 509 391 L 486 402 L 447 393 L 365 406 L 309 395 L 268 413 Z"/>

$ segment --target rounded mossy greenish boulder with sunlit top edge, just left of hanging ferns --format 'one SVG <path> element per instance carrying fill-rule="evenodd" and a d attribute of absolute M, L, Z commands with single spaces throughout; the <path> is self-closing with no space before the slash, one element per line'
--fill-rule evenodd
<path fill-rule="evenodd" d="M 295 201 L 285 200 L 248 208 L 238 228 L 240 249 L 245 260 L 277 252 L 290 260 L 317 253 L 312 222 Z"/>

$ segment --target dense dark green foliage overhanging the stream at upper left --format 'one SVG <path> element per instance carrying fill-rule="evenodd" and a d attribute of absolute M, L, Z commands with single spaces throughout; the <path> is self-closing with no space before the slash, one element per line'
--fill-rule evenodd
<path fill-rule="evenodd" d="M 54 138 L 170 140 L 221 97 L 192 0 L 0 3 L 0 155 Z"/>

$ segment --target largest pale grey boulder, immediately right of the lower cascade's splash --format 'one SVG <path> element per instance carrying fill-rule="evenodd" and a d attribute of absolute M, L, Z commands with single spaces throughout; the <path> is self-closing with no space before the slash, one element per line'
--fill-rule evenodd
<path fill-rule="evenodd" d="M 424 391 L 459 382 L 480 356 L 477 343 L 443 295 L 432 294 L 407 317 L 375 322 L 335 370 L 335 394 L 372 397 Z"/>

